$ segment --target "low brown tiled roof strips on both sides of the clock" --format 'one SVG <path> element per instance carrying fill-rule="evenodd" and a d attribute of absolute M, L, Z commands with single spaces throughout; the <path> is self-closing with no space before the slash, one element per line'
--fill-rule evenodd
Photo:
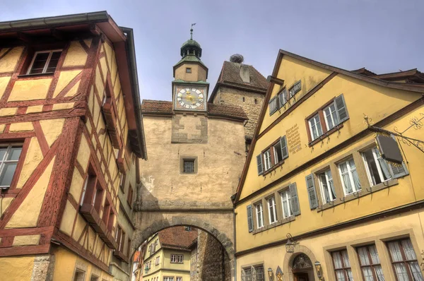
<path fill-rule="evenodd" d="M 141 113 L 144 115 L 172 115 L 172 102 L 164 100 L 143 100 Z M 208 115 L 223 118 L 247 120 L 247 115 L 241 107 L 208 103 Z"/>

